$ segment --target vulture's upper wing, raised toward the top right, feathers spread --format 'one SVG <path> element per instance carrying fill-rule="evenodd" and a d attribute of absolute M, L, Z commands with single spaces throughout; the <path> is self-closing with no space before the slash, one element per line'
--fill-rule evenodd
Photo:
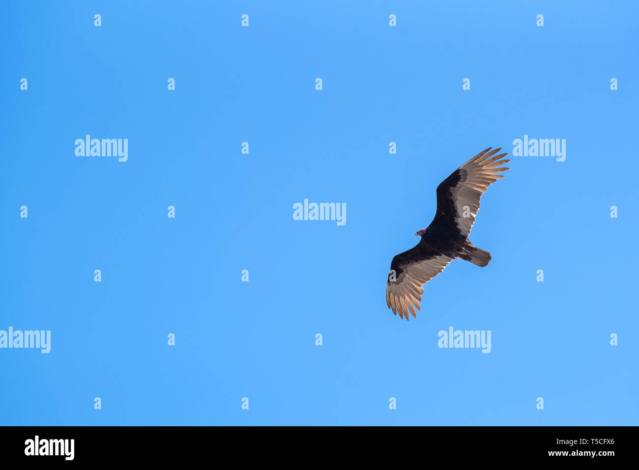
<path fill-rule="evenodd" d="M 470 234 L 482 194 L 498 178 L 504 178 L 497 173 L 510 169 L 500 167 L 510 160 L 499 160 L 508 153 L 493 156 L 501 148 L 490 149 L 473 156 L 437 186 L 437 213 L 432 224 L 456 229 L 465 237 Z"/>

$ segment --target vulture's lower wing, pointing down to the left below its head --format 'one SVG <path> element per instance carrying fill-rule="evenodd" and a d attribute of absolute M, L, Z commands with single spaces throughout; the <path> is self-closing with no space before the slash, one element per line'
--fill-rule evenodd
<path fill-rule="evenodd" d="M 424 288 L 422 285 L 443 271 L 452 258 L 431 250 L 418 243 L 393 258 L 390 262 L 389 278 L 386 284 L 386 303 L 393 314 L 408 320 L 408 312 L 415 314 L 415 308 L 421 310 Z M 415 308 L 413 308 L 413 304 Z"/>

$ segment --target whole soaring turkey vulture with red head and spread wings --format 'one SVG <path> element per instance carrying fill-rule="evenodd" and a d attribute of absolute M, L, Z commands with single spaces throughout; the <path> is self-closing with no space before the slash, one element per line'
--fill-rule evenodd
<path fill-rule="evenodd" d="M 417 245 L 390 262 L 386 303 L 394 315 L 399 313 L 399 317 L 408 320 L 410 310 L 417 318 L 413 304 L 421 310 L 422 285 L 441 273 L 453 259 L 465 259 L 482 267 L 490 262 L 489 252 L 473 246 L 468 234 L 479 211 L 481 195 L 497 178 L 504 178 L 505 175 L 497 173 L 510 169 L 499 167 L 510 162 L 499 160 L 508 153 L 493 156 L 501 148 L 490 151 L 491 148 L 473 156 L 437 186 L 433 222 L 415 233 L 422 237 Z"/>

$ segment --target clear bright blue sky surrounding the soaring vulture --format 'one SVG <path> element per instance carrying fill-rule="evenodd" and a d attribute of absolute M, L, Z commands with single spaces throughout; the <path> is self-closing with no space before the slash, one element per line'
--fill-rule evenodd
<path fill-rule="evenodd" d="M 0 423 L 639 424 L 638 15 L 4 3 L 0 329 L 52 349 L 0 349 Z M 128 162 L 75 156 L 87 133 L 129 139 Z M 524 134 L 566 139 L 566 161 L 515 157 L 472 231 L 489 266 L 452 262 L 394 317 L 390 260 L 438 183 Z M 293 220 L 305 198 L 345 202 L 346 225 Z M 449 326 L 491 330 L 491 353 L 438 348 Z"/>

